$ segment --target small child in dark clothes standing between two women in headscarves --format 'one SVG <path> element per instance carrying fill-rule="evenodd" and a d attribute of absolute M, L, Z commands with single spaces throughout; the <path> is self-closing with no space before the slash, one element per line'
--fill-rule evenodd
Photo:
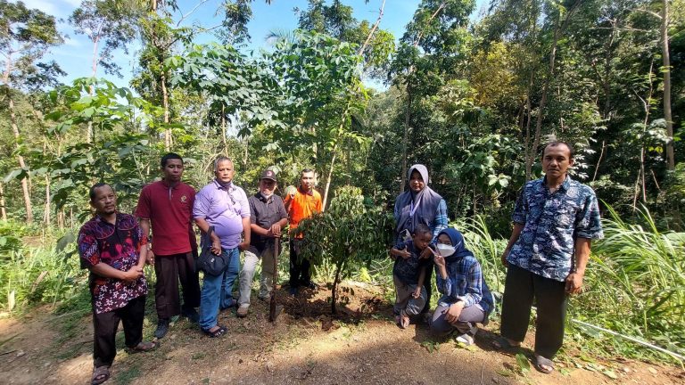
<path fill-rule="evenodd" d="M 417 225 L 409 241 L 403 241 L 390 250 L 395 259 L 392 281 L 395 283 L 395 322 L 402 329 L 409 326 L 410 318 L 421 313 L 428 297 L 425 287 L 425 271 L 431 260 L 421 258 L 433 233 L 427 225 Z"/>

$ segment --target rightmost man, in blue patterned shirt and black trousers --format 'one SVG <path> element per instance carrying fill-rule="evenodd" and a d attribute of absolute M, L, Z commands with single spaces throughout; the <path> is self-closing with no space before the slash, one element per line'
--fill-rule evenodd
<path fill-rule="evenodd" d="M 524 186 L 512 215 L 514 231 L 502 262 L 508 266 L 502 304 L 501 337 L 495 348 L 517 348 L 524 340 L 532 301 L 537 305 L 535 358 L 542 373 L 564 340 L 568 295 L 582 290 L 590 242 L 602 238 L 597 197 L 571 179 L 574 150 L 549 143 L 542 153 L 545 176 Z"/>

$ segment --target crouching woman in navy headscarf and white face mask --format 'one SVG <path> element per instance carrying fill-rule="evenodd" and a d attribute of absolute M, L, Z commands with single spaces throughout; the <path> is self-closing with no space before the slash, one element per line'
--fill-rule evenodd
<path fill-rule="evenodd" d="M 442 297 L 433 313 L 431 332 L 443 336 L 456 330 L 458 342 L 472 345 L 478 330 L 475 324 L 487 324 L 494 308 L 481 264 L 466 249 L 464 236 L 453 228 L 438 234 L 435 249 L 433 262 Z"/>

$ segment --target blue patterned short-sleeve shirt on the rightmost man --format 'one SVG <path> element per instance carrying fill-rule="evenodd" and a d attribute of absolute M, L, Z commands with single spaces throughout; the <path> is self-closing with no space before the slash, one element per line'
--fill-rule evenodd
<path fill-rule="evenodd" d="M 554 193 L 545 177 L 525 184 L 511 218 L 524 229 L 507 261 L 556 281 L 574 268 L 577 238 L 604 236 L 595 192 L 570 176 Z"/>

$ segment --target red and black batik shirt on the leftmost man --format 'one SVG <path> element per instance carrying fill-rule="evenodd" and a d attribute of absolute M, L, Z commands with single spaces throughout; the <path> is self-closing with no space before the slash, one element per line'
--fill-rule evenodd
<path fill-rule="evenodd" d="M 128 271 L 138 263 L 140 248 L 145 244 L 147 238 L 143 236 L 136 217 L 117 213 L 115 224 L 112 225 L 96 216 L 78 232 L 81 268 L 103 263 L 120 271 Z M 144 276 L 129 284 L 91 271 L 89 283 L 96 314 L 125 307 L 129 300 L 147 294 Z"/>

